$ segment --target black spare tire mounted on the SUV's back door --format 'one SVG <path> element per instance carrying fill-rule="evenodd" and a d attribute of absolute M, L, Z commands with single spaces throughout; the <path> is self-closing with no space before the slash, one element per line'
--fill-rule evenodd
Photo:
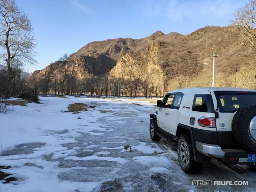
<path fill-rule="evenodd" d="M 247 105 L 236 112 L 232 133 L 239 145 L 256 153 L 256 105 Z"/>

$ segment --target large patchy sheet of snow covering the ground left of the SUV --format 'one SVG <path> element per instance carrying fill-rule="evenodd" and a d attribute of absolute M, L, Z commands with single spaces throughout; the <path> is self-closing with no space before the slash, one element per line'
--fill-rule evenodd
<path fill-rule="evenodd" d="M 18 98 L 11 98 L 17 100 Z M 91 191 L 99 186 L 101 182 L 74 182 L 70 180 L 60 180 L 59 172 L 88 169 L 77 166 L 70 168 L 60 168 L 60 161 L 84 161 L 93 160 L 102 162 L 116 162 L 125 165 L 129 158 L 112 156 L 109 151 L 99 149 L 123 149 L 123 146 L 115 144 L 134 141 L 134 138 L 126 134 L 105 137 L 101 142 L 92 142 L 92 137 L 104 137 L 104 134 L 111 133 L 115 127 L 109 127 L 104 121 L 128 120 L 129 117 L 116 115 L 113 113 L 101 113 L 96 105 L 106 102 L 104 99 L 83 98 L 83 97 L 39 97 L 40 104 L 28 103 L 27 106 L 14 106 L 14 110 L 7 114 L 0 114 L 0 155 L 2 152 L 13 153 L 0 156 L 0 166 L 12 166 L 4 169 L 5 173 L 12 174 L 9 177 L 17 177 L 17 181 L 9 184 L 0 183 L 0 191 Z M 78 114 L 63 113 L 71 103 L 94 102 L 96 108 L 88 108 Z M 110 110 L 117 101 L 108 101 L 109 105 L 101 110 Z M 125 103 L 124 100 L 118 103 Z M 128 102 L 130 103 L 130 102 Z M 89 105 L 89 104 L 88 104 Z M 135 106 L 136 107 L 136 106 Z M 149 104 L 151 108 L 152 105 Z M 127 110 L 132 108 L 126 107 Z M 81 119 L 77 119 L 81 117 Z M 147 117 L 148 118 L 148 117 Z M 85 137 L 84 134 L 87 134 Z M 79 139 L 81 138 L 81 139 Z M 84 139 L 83 139 L 84 138 Z M 82 140 L 82 142 L 80 141 Z M 89 145 L 88 145 L 89 143 Z M 136 143 L 134 143 L 136 144 Z M 22 145 L 18 147 L 18 145 Z M 91 156 L 76 156 L 82 152 L 93 152 Z M 146 143 L 134 145 L 137 151 L 142 153 L 153 153 L 155 149 L 147 146 Z M 91 150 L 91 149 L 95 150 Z M 8 151 L 6 151 L 8 150 Z M 14 152 L 12 152 L 14 150 Z M 16 150 L 16 151 L 15 151 Z M 80 152 L 79 152 L 80 151 Z M 100 156 L 98 156 L 100 155 Z M 103 156 L 101 156 L 103 155 Z M 104 155 L 108 155 L 107 157 Z M 101 167 L 102 165 L 98 165 Z M 98 167 L 96 166 L 95 169 Z M 119 169 L 116 169 L 119 170 Z M 115 171 L 116 172 L 116 171 Z M 92 175 L 91 178 L 94 178 Z M 106 177 L 108 178 L 108 177 Z M 114 179 L 114 178 L 113 178 Z M 92 179 L 97 181 L 97 179 Z M 15 183 L 16 185 L 13 185 Z"/>

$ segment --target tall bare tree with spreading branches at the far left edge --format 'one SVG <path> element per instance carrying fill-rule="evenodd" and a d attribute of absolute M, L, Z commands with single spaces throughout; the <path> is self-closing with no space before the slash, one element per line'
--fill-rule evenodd
<path fill-rule="evenodd" d="M 19 60 L 20 64 L 34 64 L 36 46 L 32 36 L 33 27 L 15 0 L 0 0 L 0 46 L 4 49 L 1 56 L 8 67 L 8 86 L 11 96 L 13 71 L 12 60 Z"/>

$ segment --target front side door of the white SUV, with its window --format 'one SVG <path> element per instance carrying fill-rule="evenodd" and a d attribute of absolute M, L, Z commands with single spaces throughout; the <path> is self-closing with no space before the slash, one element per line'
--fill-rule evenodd
<path fill-rule="evenodd" d="M 171 133 L 170 129 L 170 114 L 172 110 L 172 101 L 175 94 L 168 94 L 165 96 L 162 107 L 158 111 L 158 126 L 168 133 Z"/>

